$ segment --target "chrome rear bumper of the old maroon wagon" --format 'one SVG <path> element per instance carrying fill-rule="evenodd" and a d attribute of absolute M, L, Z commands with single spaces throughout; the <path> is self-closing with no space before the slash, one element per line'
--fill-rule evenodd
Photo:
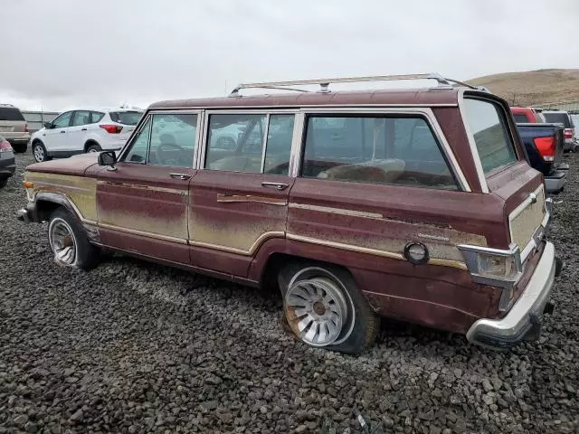
<path fill-rule="evenodd" d="M 549 296 L 555 276 L 562 268 L 561 259 L 555 257 L 553 244 L 546 242 L 527 288 L 508 314 L 501 319 L 479 319 L 470 326 L 467 339 L 473 344 L 511 348 L 523 340 L 536 338 L 541 330 L 541 315 L 552 310 Z"/>

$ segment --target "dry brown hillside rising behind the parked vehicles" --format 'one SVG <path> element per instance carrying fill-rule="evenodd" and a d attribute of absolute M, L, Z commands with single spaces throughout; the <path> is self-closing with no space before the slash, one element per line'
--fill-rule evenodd
<path fill-rule="evenodd" d="M 489 88 L 513 106 L 579 99 L 579 70 L 506 72 L 467 82 Z"/>

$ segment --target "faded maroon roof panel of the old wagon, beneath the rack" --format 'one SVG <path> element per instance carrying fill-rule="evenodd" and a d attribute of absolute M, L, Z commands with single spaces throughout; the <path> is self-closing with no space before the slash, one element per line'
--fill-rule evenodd
<path fill-rule="evenodd" d="M 452 106 L 465 88 L 304 92 L 158 101 L 148 109 L 291 108 L 308 106 Z M 488 92 L 467 90 L 489 97 Z"/>

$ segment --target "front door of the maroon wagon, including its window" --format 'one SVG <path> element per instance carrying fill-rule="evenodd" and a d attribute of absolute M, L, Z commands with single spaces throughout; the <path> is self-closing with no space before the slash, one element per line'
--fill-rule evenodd
<path fill-rule="evenodd" d="M 97 186 L 104 245 L 157 259 L 189 263 L 187 206 L 197 113 L 153 113 Z"/>

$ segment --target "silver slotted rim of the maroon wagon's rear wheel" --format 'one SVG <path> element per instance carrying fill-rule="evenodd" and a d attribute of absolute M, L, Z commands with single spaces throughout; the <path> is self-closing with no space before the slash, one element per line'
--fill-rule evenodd
<path fill-rule="evenodd" d="M 335 343 L 347 323 L 343 290 L 330 278 L 294 279 L 284 302 L 289 325 L 306 344 Z"/>

